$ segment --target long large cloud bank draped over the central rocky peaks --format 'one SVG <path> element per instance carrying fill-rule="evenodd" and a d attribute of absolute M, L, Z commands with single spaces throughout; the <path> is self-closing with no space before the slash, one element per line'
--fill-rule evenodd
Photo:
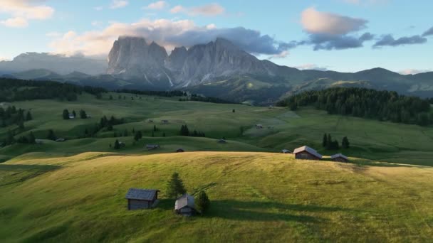
<path fill-rule="evenodd" d="M 189 47 L 208 43 L 216 38 L 226 38 L 239 48 L 254 54 L 286 55 L 284 51 L 294 46 L 293 43 L 276 41 L 271 36 L 262 35 L 259 31 L 242 27 L 216 28 L 214 24 L 197 26 L 190 20 L 142 19 L 135 23 L 111 23 L 100 31 L 85 33 L 68 31 L 62 36 L 53 38 L 50 47 L 53 53 L 106 56 L 119 36 L 141 36 L 147 41 L 155 41 L 167 50 L 180 45 Z"/>

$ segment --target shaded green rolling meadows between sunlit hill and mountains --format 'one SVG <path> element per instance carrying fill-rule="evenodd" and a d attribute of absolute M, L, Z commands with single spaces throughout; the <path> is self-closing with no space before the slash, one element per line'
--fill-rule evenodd
<path fill-rule="evenodd" d="M 109 96 L 114 97 L 113 100 Z M 81 95 L 78 101 L 61 102 L 36 100 L 11 103 L 18 108 L 31 109 L 32 121 L 26 121 L 26 131 L 16 138 L 33 131 L 37 139 L 46 139 L 48 129 L 56 136 L 68 139 L 64 143 L 44 141 L 43 144 L 14 144 L 0 148 L 0 161 L 29 152 L 49 152 L 53 156 L 71 156 L 88 151 L 115 152 L 110 148 L 115 139 L 126 144 L 120 153 L 148 154 L 168 153 L 177 148 L 186 151 L 270 151 L 282 148 L 293 150 L 308 145 L 317 148 L 325 155 L 343 152 L 349 156 L 376 161 L 392 161 L 424 166 L 432 166 L 433 127 L 394 124 L 390 122 L 328 115 L 325 112 L 303 108 L 295 112 L 288 109 L 250 107 L 240 104 L 212 104 L 205 102 L 179 102 L 177 98 L 104 94 L 102 99 L 91 95 Z M 123 99 L 125 96 L 126 99 Z M 131 96 L 134 98 L 131 99 Z M 140 99 L 141 97 L 141 99 Z M 63 120 L 61 112 L 69 109 L 78 113 L 80 109 L 90 114 L 90 119 Z M 232 110 L 235 109 L 235 112 Z M 114 115 L 125 118 L 125 124 L 114 126 L 113 131 L 100 131 L 95 138 L 78 139 L 85 129 L 93 129 L 103 116 Z M 169 120 L 162 124 L 161 120 Z M 153 120 L 153 123 L 149 121 Z M 206 134 L 206 138 L 178 136 L 180 127 L 187 124 L 190 131 L 196 129 Z M 263 124 L 264 129 L 256 129 L 255 124 Z M 152 129 L 157 126 L 160 131 Z M 8 129 L 0 128 L 0 138 Z M 270 128 L 270 129 L 268 129 Z M 128 136 L 115 138 L 125 129 Z M 134 143 L 132 129 L 142 131 L 144 138 Z M 327 151 L 321 147 L 324 133 L 341 141 L 348 136 L 349 149 Z M 163 134 L 166 136 L 163 137 Z M 216 139 L 229 139 L 227 144 L 218 144 Z M 149 152 L 145 144 L 160 144 L 158 151 Z"/>

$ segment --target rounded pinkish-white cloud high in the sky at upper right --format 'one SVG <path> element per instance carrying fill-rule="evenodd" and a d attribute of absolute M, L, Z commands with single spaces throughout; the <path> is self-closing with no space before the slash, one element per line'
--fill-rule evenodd
<path fill-rule="evenodd" d="M 344 35 L 365 28 L 367 21 L 335 13 L 308 8 L 302 12 L 301 23 L 305 31 L 315 34 Z"/>

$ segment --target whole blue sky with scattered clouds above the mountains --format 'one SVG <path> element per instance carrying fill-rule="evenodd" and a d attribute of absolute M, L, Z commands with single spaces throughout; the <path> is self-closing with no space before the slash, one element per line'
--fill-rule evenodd
<path fill-rule="evenodd" d="M 278 65 L 433 70 L 431 0 L 0 0 L 0 60 L 26 52 L 106 58 L 118 36 L 165 46 L 226 38 Z"/>

